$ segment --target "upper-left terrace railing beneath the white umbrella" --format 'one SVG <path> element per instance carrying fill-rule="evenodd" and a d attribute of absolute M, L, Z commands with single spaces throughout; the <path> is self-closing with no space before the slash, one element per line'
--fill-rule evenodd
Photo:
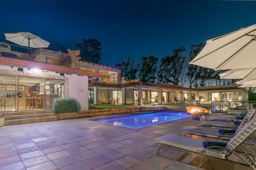
<path fill-rule="evenodd" d="M 66 53 L 55 52 L 46 48 L 28 48 L 7 43 L 0 43 L 0 56 L 64 66 L 70 66 L 71 62 L 71 57 Z"/>

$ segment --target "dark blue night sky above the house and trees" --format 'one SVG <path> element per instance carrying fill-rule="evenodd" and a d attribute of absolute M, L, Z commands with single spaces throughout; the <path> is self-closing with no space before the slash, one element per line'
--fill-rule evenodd
<path fill-rule="evenodd" d="M 205 43 L 256 23 L 253 1 L 1 1 L 0 38 L 27 31 L 74 49 L 82 39 L 101 42 L 101 64 L 127 57 L 162 58 L 173 49 Z"/>

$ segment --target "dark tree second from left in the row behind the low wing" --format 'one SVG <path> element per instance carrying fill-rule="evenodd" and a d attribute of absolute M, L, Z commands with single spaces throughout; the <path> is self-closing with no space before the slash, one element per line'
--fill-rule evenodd
<path fill-rule="evenodd" d="M 154 56 L 142 57 L 139 78 L 142 82 L 155 82 L 158 58 Z"/>

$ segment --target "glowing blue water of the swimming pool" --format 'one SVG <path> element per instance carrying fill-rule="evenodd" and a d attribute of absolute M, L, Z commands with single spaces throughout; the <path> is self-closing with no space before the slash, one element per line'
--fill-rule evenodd
<path fill-rule="evenodd" d="M 153 112 L 145 114 L 135 114 L 127 116 L 118 117 L 106 117 L 106 118 L 96 118 L 91 121 L 96 121 L 100 123 L 106 123 L 116 126 L 122 126 L 125 128 L 139 129 L 146 126 L 151 126 L 155 124 L 170 122 L 179 120 L 180 118 L 190 117 L 185 112 Z"/>

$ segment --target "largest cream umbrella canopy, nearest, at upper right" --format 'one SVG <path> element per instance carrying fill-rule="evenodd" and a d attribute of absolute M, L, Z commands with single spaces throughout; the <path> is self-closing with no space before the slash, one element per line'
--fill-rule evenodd
<path fill-rule="evenodd" d="M 256 24 L 206 41 L 189 63 L 214 70 L 255 67 Z"/>

